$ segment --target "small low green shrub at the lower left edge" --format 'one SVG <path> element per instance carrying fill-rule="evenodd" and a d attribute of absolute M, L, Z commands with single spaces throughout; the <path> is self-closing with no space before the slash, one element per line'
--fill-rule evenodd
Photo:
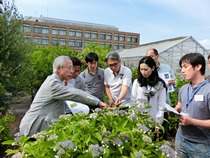
<path fill-rule="evenodd" d="M 9 114 L 0 118 L 0 142 L 13 138 L 9 127 L 14 119 L 15 117 Z"/>

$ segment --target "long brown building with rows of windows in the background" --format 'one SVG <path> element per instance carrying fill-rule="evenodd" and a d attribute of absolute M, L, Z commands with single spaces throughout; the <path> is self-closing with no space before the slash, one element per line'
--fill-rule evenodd
<path fill-rule="evenodd" d="M 25 17 L 24 40 L 36 45 L 69 46 L 81 52 L 89 43 L 112 50 L 136 47 L 140 34 L 121 32 L 115 26 L 46 17 Z"/>

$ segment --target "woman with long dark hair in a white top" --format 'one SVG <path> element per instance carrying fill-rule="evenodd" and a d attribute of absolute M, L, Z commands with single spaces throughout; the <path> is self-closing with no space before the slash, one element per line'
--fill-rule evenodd
<path fill-rule="evenodd" d="M 159 123 L 163 123 L 166 102 L 166 84 L 158 76 L 155 61 L 150 56 L 143 57 L 138 64 L 138 78 L 132 87 L 131 103 L 138 104 L 142 100 L 148 101 L 151 106 L 148 113 Z"/>

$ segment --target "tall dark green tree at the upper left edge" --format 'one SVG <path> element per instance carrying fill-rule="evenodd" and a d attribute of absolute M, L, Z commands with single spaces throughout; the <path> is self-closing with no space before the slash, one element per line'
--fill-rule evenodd
<path fill-rule="evenodd" d="M 17 93 L 21 88 L 18 78 L 22 61 L 28 47 L 22 36 L 23 18 L 14 1 L 4 2 L 0 14 L 0 107 L 5 110 L 5 93 Z M 4 107 L 5 106 L 5 107 Z"/>

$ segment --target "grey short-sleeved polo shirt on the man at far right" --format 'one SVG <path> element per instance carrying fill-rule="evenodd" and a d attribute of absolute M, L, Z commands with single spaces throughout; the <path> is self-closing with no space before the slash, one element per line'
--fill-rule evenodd
<path fill-rule="evenodd" d="M 187 98 L 188 95 L 192 97 L 193 92 L 196 91 L 199 85 L 203 84 L 204 82 L 195 85 L 194 88 L 192 88 L 190 83 L 186 84 L 180 89 L 179 92 L 179 102 L 182 104 L 182 112 L 185 112 L 190 117 L 199 120 L 210 119 L 210 83 L 207 83 L 200 88 L 188 106 Z M 199 142 L 203 144 L 210 143 L 210 129 L 197 126 L 180 126 L 179 132 L 185 139 L 192 142 Z"/>

